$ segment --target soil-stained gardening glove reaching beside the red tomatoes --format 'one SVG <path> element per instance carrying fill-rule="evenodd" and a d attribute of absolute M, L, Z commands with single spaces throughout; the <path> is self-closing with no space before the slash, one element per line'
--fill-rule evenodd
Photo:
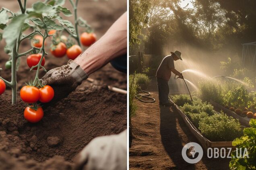
<path fill-rule="evenodd" d="M 43 103 L 43 107 L 52 105 L 68 96 L 74 91 L 88 75 L 74 61 L 69 60 L 67 65 L 48 71 L 42 77 L 43 85 L 50 85 L 54 89 L 54 98 L 50 103 Z"/>

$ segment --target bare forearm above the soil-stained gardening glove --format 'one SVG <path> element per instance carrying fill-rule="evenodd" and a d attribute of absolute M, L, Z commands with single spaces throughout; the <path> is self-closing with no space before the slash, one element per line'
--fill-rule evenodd
<path fill-rule="evenodd" d="M 125 12 L 107 32 L 74 61 L 88 74 L 127 52 L 127 13 Z"/>

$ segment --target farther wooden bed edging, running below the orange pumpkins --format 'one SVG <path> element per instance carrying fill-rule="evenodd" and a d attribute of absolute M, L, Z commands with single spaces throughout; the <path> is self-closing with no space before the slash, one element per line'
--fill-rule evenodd
<path fill-rule="evenodd" d="M 249 121 L 250 119 L 248 117 L 242 117 L 237 115 L 235 112 L 223 107 L 222 105 L 220 105 L 219 103 L 216 103 L 215 101 L 210 101 L 211 105 L 213 105 L 213 107 L 219 110 L 222 110 L 224 113 L 226 113 L 229 116 L 234 117 L 235 119 L 239 119 L 239 122 L 241 123 L 241 125 L 244 125 L 246 127 L 249 127 Z"/>

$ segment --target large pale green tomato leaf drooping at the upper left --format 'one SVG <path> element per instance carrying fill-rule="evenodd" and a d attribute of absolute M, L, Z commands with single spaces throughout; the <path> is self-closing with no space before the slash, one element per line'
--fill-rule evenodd
<path fill-rule="evenodd" d="M 14 43 L 16 43 L 25 19 L 27 19 L 27 15 L 20 14 L 13 18 L 10 24 L 4 28 L 3 38 L 5 38 L 7 46 L 11 48 L 14 46 Z"/>

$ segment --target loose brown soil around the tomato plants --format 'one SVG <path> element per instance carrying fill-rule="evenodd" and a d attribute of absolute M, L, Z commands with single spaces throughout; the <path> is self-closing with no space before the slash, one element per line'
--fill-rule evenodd
<path fill-rule="evenodd" d="M 27 6 L 33 2 L 35 0 L 29 0 Z M 70 8 L 68 1 L 66 4 Z M 1 0 L 2 6 L 12 11 L 19 8 L 16 0 Z M 91 24 L 98 38 L 125 11 L 126 0 L 80 0 L 78 5 L 78 15 Z M 0 68 L 3 70 L 0 75 L 10 80 L 10 71 L 4 69 L 8 61 L 4 45 L 1 41 Z M 47 40 L 47 70 L 67 63 L 67 57 L 57 59 L 51 55 L 49 48 L 50 40 Z M 30 49 L 29 41 L 20 47 L 21 52 L 27 49 Z M 41 71 L 40 77 L 43 75 Z M 35 71 L 29 72 L 26 57 L 22 57 L 17 73 L 18 91 L 34 76 Z M 93 138 L 118 134 L 126 129 L 126 95 L 111 92 L 106 86 L 126 89 L 126 74 L 108 64 L 90 78 L 96 79 L 97 84 L 83 81 L 66 99 L 45 109 L 43 119 L 35 124 L 24 119 L 25 103 L 20 97 L 17 105 L 11 105 L 11 90 L 7 87 L 0 96 L 0 170 L 69 170 L 76 154 Z"/>

